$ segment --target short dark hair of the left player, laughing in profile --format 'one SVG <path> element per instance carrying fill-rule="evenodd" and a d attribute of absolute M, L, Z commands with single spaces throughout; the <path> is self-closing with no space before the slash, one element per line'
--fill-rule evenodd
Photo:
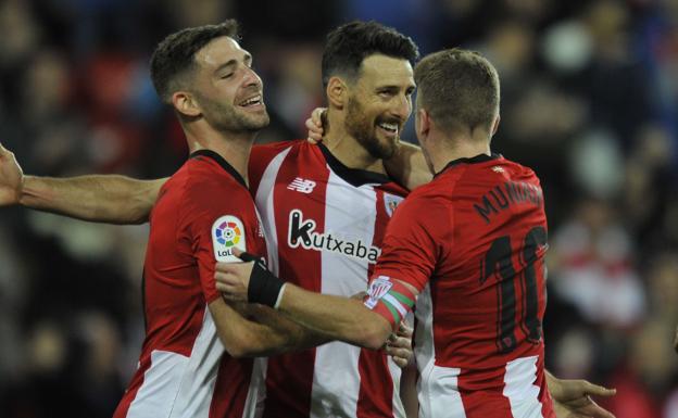
<path fill-rule="evenodd" d="M 151 80 L 163 102 L 172 102 L 172 94 L 180 88 L 181 76 L 196 64 L 196 52 L 222 36 L 238 40 L 238 22 L 230 18 L 218 25 L 188 27 L 158 45 L 151 56 Z"/>

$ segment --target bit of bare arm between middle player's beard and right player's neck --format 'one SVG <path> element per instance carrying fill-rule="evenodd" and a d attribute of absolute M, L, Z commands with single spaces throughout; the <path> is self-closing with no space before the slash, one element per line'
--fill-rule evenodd
<path fill-rule="evenodd" d="M 401 141 L 393 156 L 384 160 L 384 166 L 393 180 L 409 190 L 426 185 L 434 178 L 422 149 L 409 142 Z"/>

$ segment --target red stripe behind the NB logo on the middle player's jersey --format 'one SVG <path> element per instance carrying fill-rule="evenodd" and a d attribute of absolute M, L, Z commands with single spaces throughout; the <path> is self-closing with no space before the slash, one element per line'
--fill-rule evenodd
<path fill-rule="evenodd" d="M 300 152 L 294 147 L 286 156 L 274 190 L 276 233 L 278 237 L 279 277 L 306 290 L 321 291 L 322 252 L 292 249 L 288 242 L 290 212 L 300 210 L 303 219 L 313 219 L 315 230 L 325 229 L 325 185 L 329 177 L 319 148 Z M 297 190 L 288 189 L 296 179 L 315 181 L 313 199 Z M 298 198 L 298 199 L 296 199 Z M 306 199 L 302 199 L 306 198 Z M 318 204 L 317 202 L 321 202 Z M 301 246 L 301 243 L 299 243 Z M 266 403 L 264 418 L 305 418 L 311 410 L 315 349 L 284 354 L 268 359 L 266 372 Z"/>

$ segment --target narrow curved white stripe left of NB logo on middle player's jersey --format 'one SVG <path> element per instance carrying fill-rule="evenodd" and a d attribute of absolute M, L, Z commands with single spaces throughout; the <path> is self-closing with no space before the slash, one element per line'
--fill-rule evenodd
<path fill-rule="evenodd" d="M 256 189 L 256 198 L 254 200 L 256 208 L 262 215 L 262 223 L 264 225 L 266 250 L 268 252 L 268 269 L 276 276 L 278 276 L 280 271 L 278 265 L 278 232 L 276 229 L 275 206 L 273 203 L 275 193 L 273 191 L 276 177 L 278 177 L 278 172 L 280 170 L 280 165 L 282 165 L 282 161 L 285 161 L 290 150 L 291 147 L 280 152 L 268 163 L 259 183 L 259 189 Z"/>

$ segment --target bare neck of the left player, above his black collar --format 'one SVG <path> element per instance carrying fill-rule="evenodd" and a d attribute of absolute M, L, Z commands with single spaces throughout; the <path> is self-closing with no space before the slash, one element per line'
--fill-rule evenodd
<path fill-rule="evenodd" d="M 249 186 L 248 163 L 256 132 L 225 134 L 212 129 L 201 132 L 185 130 L 185 132 L 189 152 L 198 150 L 216 152 L 242 176 Z"/>

